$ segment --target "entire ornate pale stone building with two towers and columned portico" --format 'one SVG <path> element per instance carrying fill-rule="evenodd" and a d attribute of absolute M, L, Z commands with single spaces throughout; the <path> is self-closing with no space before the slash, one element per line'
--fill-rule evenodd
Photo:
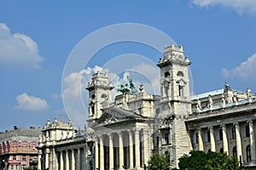
<path fill-rule="evenodd" d="M 190 150 L 241 156 L 255 167 L 256 99 L 225 84 L 190 96 L 188 57 L 182 46 L 166 47 L 160 67 L 160 95 L 147 94 L 132 81 L 119 87 L 96 72 L 88 83 L 89 117 L 84 133 L 71 122 L 48 122 L 39 144 L 42 169 L 144 169 L 154 153 L 166 154 L 172 167 Z"/>

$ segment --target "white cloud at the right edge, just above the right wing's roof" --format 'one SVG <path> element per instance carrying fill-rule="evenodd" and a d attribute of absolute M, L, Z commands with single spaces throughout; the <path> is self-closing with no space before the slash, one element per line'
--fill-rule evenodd
<path fill-rule="evenodd" d="M 242 62 L 236 68 L 227 70 L 222 69 L 222 75 L 224 78 L 239 77 L 242 80 L 253 80 L 256 82 L 256 54 L 253 54 L 246 61 Z"/>

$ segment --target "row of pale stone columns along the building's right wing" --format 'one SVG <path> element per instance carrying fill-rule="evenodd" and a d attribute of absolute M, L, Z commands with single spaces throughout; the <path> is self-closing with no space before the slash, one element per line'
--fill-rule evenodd
<path fill-rule="evenodd" d="M 254 132 L 254 125 L 253 121 L 248 121 L 249 126 L 249 144 L 250 144 L 250 154 L 251 154 L 251 160 L 253 162 L 256 162 L 256 144 L 255 144 L 255 132 Z M 236 142 L 236 156 L 239 158 L 241 156 L 241 160 L 245 160 L 242 158 L 242 141 L 241 141 L 241 124 L 240 122 L 233 123 L 233 126 L 235 127 L 234 131 L 234 142 Z M 220 126 L 222 129 L 222 142 L 223 142 L 223 151 L 229 155 L 229 147 L 230 147 L 230 139 L 228 138 L 228 132 L 226 125 Z M 217 151 L 216 150 L 216 138 L 214 135 L 214 129 L 213 127 L 208 127 L 210 131 L 210 145 L 211 145 L 211 151 Z M 233 132 L 232 132 L 233 133 Z M 197 134 L 198 134 L 198 150 L 204 151 L 204 142 L 202 138 L 202 130 L 201 128 L 197 128 Z M 233 135 L 233 134 L 232 134 Z"/>

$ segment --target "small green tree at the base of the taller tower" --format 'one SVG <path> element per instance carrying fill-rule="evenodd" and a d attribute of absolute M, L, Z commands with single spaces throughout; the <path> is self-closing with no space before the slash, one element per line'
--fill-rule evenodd
<path fill-rule="evenodd" d="M 169 157 L 166 155 L 154 154 L 148 161 L 148 170 L 170 170 Z"/>

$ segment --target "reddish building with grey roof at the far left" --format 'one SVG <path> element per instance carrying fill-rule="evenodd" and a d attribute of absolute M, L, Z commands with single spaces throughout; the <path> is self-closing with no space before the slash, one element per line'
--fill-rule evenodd
<path fill-rule="evenodd" d="M 41 129 L 18 128 L 0 133 L 0 169 L 21 170 L 38 166 L 38 136 Z"/>

